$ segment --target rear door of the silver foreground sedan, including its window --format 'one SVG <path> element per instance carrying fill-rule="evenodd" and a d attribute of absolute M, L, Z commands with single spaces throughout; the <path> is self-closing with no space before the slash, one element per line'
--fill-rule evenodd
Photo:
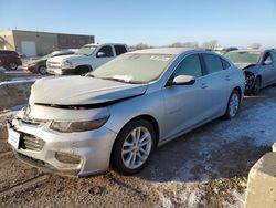
<path fill-rule="evenodd" d="M 229 102 L 234 79 L 233 72 L 231 71 L 231 65 L 219 55 L 211 53 L 202 53 L 201 55 L 208 73 L 205 76 L 205 95 L 209 97 L 205 100 L 209 106 L 208 115 L 217 117 L 224 114 Z"/>

